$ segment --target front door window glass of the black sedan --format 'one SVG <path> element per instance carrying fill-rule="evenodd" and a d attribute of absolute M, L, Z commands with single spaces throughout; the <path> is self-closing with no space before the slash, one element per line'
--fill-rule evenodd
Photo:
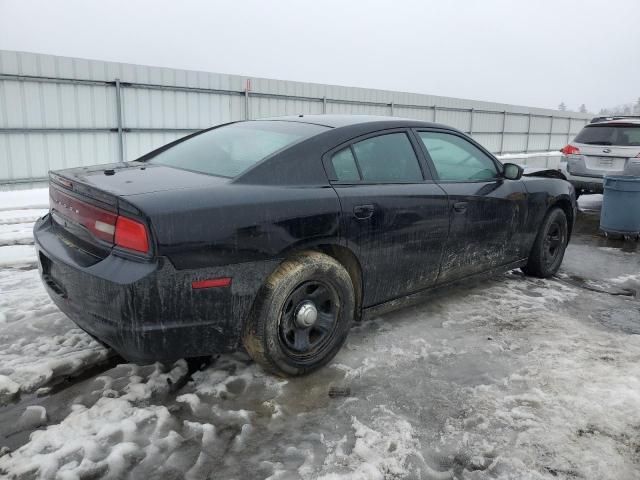
<path fill-rule="evenodd" d="M 418 135 L 429 152 L 440 180 L 468 182 L 497 177 L 494 161 L 464 138 L 440 132 L 419 132 Z"/>

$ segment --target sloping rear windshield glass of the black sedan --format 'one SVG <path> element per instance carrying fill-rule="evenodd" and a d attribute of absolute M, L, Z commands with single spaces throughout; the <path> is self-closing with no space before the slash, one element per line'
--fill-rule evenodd
<path fill-rule="evenodd" d="M 251 121 L 203 132 L 154 155 L 149 163 L 235 177 L 269 155 L 328 130 L 309 123 Z"/>

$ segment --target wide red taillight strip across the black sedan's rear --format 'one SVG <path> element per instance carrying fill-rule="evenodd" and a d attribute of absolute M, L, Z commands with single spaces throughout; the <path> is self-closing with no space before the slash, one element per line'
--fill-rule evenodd
<path fill-rule="evenodd" d="M 149 253 L 149 235 L 144 223 L 83 202 L 50 187 L 51 210 L 86 228 L 95 238 L 110 245 Z"/>

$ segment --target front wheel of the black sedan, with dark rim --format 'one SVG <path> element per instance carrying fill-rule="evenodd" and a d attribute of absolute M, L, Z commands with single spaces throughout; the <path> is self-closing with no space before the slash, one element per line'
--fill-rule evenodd
<path fill-rule="evenodd" d="M 568 242 L 567 216 L 559 207 L 553 207 L 542 221 L 527 265 L 522 271 L 530 276 L 548 278 L 554 275 L 564 258 Z"/>

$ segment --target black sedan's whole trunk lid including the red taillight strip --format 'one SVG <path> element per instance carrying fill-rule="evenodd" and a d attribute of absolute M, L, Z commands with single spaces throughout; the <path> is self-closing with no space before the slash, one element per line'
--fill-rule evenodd
<path fill-rule="evenodd" d="M 217 185 L 226 179 L 142 162 L 79 167 L 50 173 L 50 214 L 70 248 L 105 258 L 114 248 L 152 255 L 150 220 L 128 201 L 135 195 Z"/>

